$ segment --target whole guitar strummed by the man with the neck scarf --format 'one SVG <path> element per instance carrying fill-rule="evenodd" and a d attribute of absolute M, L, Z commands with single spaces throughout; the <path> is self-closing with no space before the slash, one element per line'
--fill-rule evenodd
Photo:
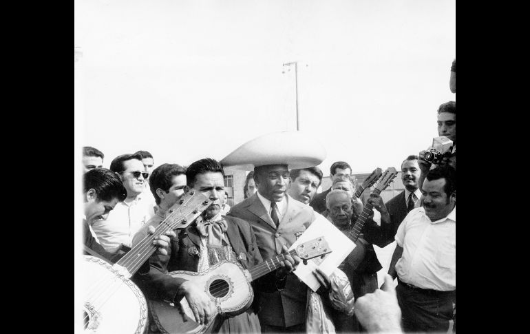
<path fill-rule="evenodd" d="M 324 237 L 319 237 L 299 244 L 288 254 L 298 255 L 302 260 L 309 260 L 331 252 Z M 195 322 L 186 298 L 182 298 L 179 304 L 149 300 L 151 315 L 159 331 L 171 334 L 206 333 L 214 328 L 214 324 L 219 324 L 224 317 L 243 313 L 254 298 L 251 282 L 278 269 L 279 262 L 285 260 L 285 255 L 286 253 L 268 259 L 249 270 L 244 269 L 237 262 L 222 261 L 199 273 L 172 271 L 169 275 L 173 278 L 184 278 L 184 280 L 191 280 L 198 286 L 202 286 L 211 300 L 212 320 L 207 325 Z"/>

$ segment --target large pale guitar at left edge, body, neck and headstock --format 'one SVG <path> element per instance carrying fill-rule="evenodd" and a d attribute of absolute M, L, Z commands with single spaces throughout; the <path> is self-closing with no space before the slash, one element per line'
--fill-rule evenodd
<path fill-rule="evenodd" d="M 85 333 L 142 334 L 147 325 L 147 302 L 131 276 L 156 251 L 153 239 L 170 229 L 187 227 L 211 200 L 200 192 L 189 191 L 169 208 L 152 235 L 146 236 L 120 258 L 109 264 L 102 258 L 83 255 L 85 284 L 83 316 Z"/>

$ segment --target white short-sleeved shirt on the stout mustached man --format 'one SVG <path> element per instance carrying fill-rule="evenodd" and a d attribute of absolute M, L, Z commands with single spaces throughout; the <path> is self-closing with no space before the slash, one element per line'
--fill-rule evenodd
<path fill-rule="evenodd" d="M 456 207 L 434 222 L 423 207 L 412 209 L 395 239 L 403 247 L 396 263 L 399 280 L 422 289 L 456 290 Z"/>

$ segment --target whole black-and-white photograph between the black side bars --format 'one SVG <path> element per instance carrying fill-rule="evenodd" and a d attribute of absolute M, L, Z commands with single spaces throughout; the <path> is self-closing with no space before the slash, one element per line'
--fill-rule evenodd
<path fill-rule="evenodd" d="M 74 147 L 74 333 L 456 333 L 454 0 L 74 0 Z"/>

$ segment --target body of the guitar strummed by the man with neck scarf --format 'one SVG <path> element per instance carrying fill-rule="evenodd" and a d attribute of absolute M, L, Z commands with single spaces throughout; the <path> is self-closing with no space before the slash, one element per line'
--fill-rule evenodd
<path fill-rule="evenodd" d="M 251 305 L 254 293 L 251 286 L 251 275 L 241 264 L 222 261 L 206 271 L 193 273 L 191 271 L 171 271 L 173 278 L 184 278 L 198 286 L 202 286 L 212 302 L 212 319 L 220 321 L 220 315 L 238 315 Z M 204 333 L 212 328 L 195 322 L 193 312 L 189 309 L 186 298 L 182 298 L 180 305 L 149 300 L 149 307 L 153 320 L 161 333 Z"/>

